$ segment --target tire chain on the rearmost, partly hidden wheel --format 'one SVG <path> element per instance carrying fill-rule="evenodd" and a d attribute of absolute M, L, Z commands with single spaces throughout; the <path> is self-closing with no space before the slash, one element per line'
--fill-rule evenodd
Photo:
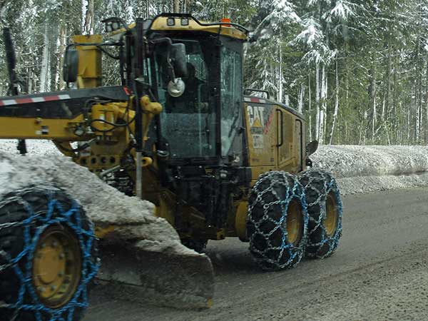
<path fill-rule="evenodd" d="M 302 181 L 305 181 L 305 183 L 303 183 Z M 310 223 L 312 223 L 310 225 L 313 225 L 313 227 L 308 230 L 309 238 L 307 241 L 307 246 L 322 248 L 325 243 L 331 243 L 327 253 L 321 256 L 318 256 L 316 254 L 314 255 L 312 253 L 306 253 L 306 255 L 309 258 L 327 258 L 335 252 L 339 243 L 339 239 L 342 236 L 342 200 L 340 199 L 339 187 L 337 186 L 336 180 L 331 173 L 328 173 L 325 170 L 317 170 L 315 168 L 311 168 L 303 172 L 302 175 L 300 175 L 300 183 L 302 184 L 305 190 L 305 195 L 307 195 L 308 190 L 313 190 L 318 195 L 316 200 L 307 204 L 307 208 L 310 209 L 312 206 L 315 205 L 318 205 L 320 207 L 320 215 L 317 220 L 313 218 L 312 215 L 309 215 L 309 221 Z M 321 185 L 322 188 L 317 188 L 317 185 Z M 326 218 L 327 213 L 325 205 L 322 205 L 321 202 L 325 202 L 327 195 L 331 191 L 335 193 L 335 198 L 337 202 L 337 230 L 332 236 L 332 238 L 323 238 L 319 243 L 311 243 L 310 235 L 314 233 L 318 228 L 322 229 L 322 235 L 327 235 L 325 226 L 322 224 Z"/>

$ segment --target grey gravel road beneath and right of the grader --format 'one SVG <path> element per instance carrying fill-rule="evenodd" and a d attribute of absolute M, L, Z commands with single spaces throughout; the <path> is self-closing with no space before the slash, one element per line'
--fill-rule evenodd
<path fill-rule="evenodd" d="M 142 306 L 94 291 L 84 321 L 428 320 L 428 188 L 343 202 L 343 236 L 331 258 L 262 272 L 246 243 L 211 242 L 211 309 Z"/>

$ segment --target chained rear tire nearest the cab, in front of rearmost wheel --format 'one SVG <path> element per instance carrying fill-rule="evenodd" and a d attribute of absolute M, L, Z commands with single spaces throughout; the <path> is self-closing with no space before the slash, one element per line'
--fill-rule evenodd
<path fill-rule="evenodd" d="M 297 222 L 292 230 L 290 218 Z M 250 193 L 247 220 L 256 263 L 263 270 L 295 267 L 305 253 L 307 221 L 305 193 L 295 175 L 280 171 L 260 175 Z"/>

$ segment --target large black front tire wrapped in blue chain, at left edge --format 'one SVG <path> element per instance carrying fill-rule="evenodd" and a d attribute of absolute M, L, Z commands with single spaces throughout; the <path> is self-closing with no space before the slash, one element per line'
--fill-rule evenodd
<path fill-rule="evenodd" d="M 51 240 L 44 238 L 46 233 L 61 235 L 61 241 L 65 242 L 64 247 L 63 243 L 58 245 L 66 253 L 60 256 L 61 266 L 67 271 L 65 281 L 58 287 L 52 285 L 49 290 L 56 293 L 52 295 L 58 300 L 55 306 L 51 297 L 41 297 L 39 291 L 45 289 L 36 286 L 36 282 L 43 277 L 34 272 L 38 267 L 36 260 L 43 257 L 40 253 L 34 254 L 49 248 L 41 244 Z M 74 263 L 70 263 L 70 252 L 80 254 L 80 257 L 72 256 L 77 258 Z M 81 320 L 88 306 L 88 286 L 98 271 L 97 255 L 93 224 L 81 205 L 63 190 L 51 186 L 29 187 L 5 195 L 0 202 L 1 320 Z M 69 272 L 71 264 L 78 271 L 74 275 Z M 68 274 L 72 277 L 68 278 Z M 54 290 L 56 288 L 61 290 Z M 67 294 L 63 295 L 62 291 Z"/>

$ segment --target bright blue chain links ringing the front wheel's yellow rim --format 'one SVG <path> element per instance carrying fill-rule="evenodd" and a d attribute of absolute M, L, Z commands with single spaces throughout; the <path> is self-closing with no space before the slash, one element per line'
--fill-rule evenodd
<path fill-rule="evenodd" d="M 24 249 L 16 255 L 15 258 L 10 260 L 10 264 L 21 281 L 21 287 L 18 292 L 18 299 L 14 304 L 4 305 L 5 307 L 15 310 L 15 315 L 20 310 L 31 311 L 36 317 L 36 321 L 73 321 L 74 310 L 80 307 L 83 310 L 88 307 L 88 284 L 96 276 L 99 269 L 98 258 L 93 258 L 93 241 L 96 236 L 93 232 L 93 225 L 90 223 L 88 230 L 82 227 L 81 222 L 81 206 L 73 201 L 71 208 L 64 210 L 61 203 L 53 198 L 53 192 L 49 192 L 48 210 L 45 215 L 36 214 L 31 208 L 31 205 L 21 198 L 22 205 L 29 213 L 29 217 L 19 223 L 24 227 Z M 56 214 L 54 217 L 54 213 Z M 73 223 L 76 222 L 76 223 Z M 36 245 L 39 241 L 40 235 L 51 225 L 66 225 L 78 238 L 78 243 L 83 254 L 81 282 L 78 285 L 76 292 L 71 300 L 61 308 L 52 309 L 41 304 L 34 285 L 32 282 L 32 267 L 33 256 Z M 38 225 L 33 236 L 31 236 L 32 225 Z M 21 260 L 26 260 L 24 270 L 21 269 L 19 263 Z M 94 262 L 95 260 L 95 262 Z M 27 295 L 31 298 L 31 304 L 24 303 L 24 297 Z M 50 315 L 49 320 L 44 320 L 41 313 L 44 312 Z M 66 319 L 64 319 L 66 316 Z"/>

